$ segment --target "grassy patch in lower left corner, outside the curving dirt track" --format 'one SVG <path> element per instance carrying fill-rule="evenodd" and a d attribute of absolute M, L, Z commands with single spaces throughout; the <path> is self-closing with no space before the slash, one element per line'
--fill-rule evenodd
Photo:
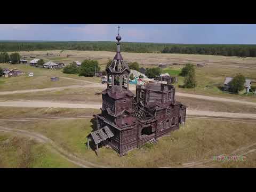
<path fill-rule="evenodd" d="M 47 145 L 26 137 L 0 132 L 0 167 L 77 167 Z"/>

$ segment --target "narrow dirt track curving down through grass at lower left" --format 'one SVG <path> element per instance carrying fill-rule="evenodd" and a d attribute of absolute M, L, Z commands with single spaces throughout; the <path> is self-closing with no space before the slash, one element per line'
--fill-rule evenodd
<path fill-rule="evenodd" d="M 81 167 L 84 167 L 84 168 L 104 167 L 104 166 L 101 166 L 101 165 L 96 165 L 96 164 L 91 163 L 91 162 L 87 162 L 82 158 L 79 158 L 79 157 L 77 157 L 73 154 L 68 153 L 67 151 L 63 150 L 61 147 L 57 146 L 51 139 L 45 137 L 42 134 L 34 133 L 34 132 L 31 132 L 31 131 L 28 132 L 28 131 L 25 131 L 25 130 L 11 129 L 11 128 L 2 127 L 2 126 L 0 126 L 0 131 L 14 133 L 14 134 L 18 134 L 18 135 L 21 135 L 21 136 L 26 136 L 26 137 L 29 137 L 29 138 L 33 138 L 38 142 L 49 144 L 52 151 L 54 151 L 55 153 L 58 153 L 60 156 L 65 158 L 67 161 L 69 161 L 71 163 L 74 163 L 78 166 L 81 166 Z"/>

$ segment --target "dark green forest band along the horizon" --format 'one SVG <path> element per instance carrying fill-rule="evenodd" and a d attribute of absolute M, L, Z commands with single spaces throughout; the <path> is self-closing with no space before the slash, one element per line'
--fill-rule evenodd
<path fill-rule="evenodd" d="M 116 42 L 0 42 L 0 52 L 41 50 L 116 51 Z M 134 53 L 185 53 L 256 57 L 256 45 L 242 44 L 222 45 L 122 42 L 122 51 Z"/>

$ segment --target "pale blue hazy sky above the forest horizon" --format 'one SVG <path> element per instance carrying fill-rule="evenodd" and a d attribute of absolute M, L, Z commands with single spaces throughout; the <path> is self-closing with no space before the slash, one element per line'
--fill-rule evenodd
<path fill-rule="evenodd" d="M 185 44 L 256 44 L 256 25 L 245 24 L 0 24 L 1 40 L 116 41 Z"/>

